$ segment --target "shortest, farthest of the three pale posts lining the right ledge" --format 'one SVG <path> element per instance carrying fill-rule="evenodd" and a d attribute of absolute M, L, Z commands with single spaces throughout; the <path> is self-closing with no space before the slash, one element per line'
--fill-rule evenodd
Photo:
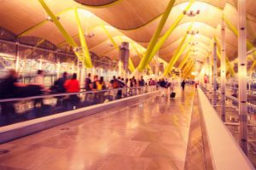
<path fill-rule="evenodd" d="M 217 105 L 217 43 L 213 42 L 213 105 Z"/>

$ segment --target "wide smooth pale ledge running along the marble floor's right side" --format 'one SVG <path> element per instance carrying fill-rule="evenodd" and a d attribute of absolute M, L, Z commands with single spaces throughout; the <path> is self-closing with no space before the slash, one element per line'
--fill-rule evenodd
<path fill-rule="evenodd" d="M 213 169 L 254 169 L 201 88 L 198 88 L 198 96 Z"/>

